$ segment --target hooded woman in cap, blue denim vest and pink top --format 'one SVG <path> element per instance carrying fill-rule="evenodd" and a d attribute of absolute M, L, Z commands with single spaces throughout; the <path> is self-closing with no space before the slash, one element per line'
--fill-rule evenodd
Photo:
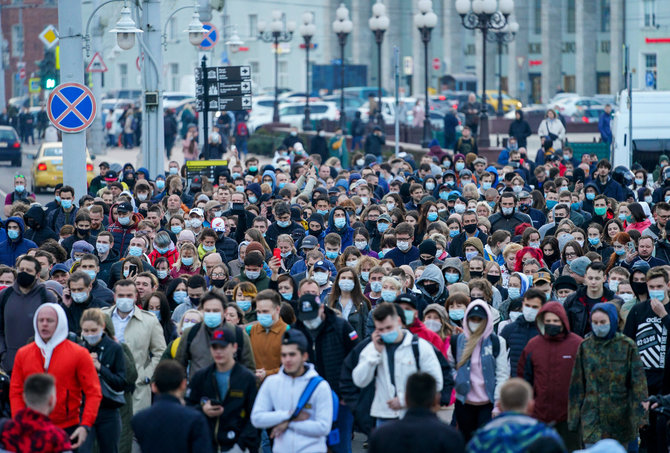
<path fill-rule="evenodd" d="M 500 386 L 509 379 L 510 369 L 505 340 L 493 333 L 488 304 L 474 300 L 465 310 L 465 319 L 463 333 L 451 339 L 455 348 L 449 348 L 448 360 L 456 370 L 454 418 L 468 442 L 491 420 Z"/>

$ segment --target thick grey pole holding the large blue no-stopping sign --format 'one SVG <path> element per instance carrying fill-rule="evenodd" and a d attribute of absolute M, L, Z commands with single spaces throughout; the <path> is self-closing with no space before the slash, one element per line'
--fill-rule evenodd
<path fill-rule="evenodd" d="M 81 0 L 58 0 L 60 31 L 60 81 L 84 83 L 82 53 Z M 83 197 L 86 187 L 86 131 L 63 134 L 63 184 L 72 186 L 75 200 Z"/>

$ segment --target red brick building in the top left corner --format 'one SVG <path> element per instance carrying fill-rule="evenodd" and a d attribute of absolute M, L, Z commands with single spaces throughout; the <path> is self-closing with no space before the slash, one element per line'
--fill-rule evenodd
<path fill-rule="evenodd" d="M 7 99 L 28 93 L 28 79 L 37 76 L 44 57 L 38 35 L 47 25 L 58 28 L 57 0 L 0 0 L 2 36 L 7 43 L 4 55 Z M 25 63 L 25 79 L 19 79 L 19 63 Z"/>

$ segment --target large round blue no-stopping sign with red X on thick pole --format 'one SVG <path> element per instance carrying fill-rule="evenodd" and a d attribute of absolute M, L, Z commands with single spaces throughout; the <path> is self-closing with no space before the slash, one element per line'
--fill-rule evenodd
<path fill-rule="evenodd" d="M 47 115 L 51 123 L 63 132 L 80 132 L 95 119 L 96 103 L 88 87 L 79 83 L 64 83 L 51 92 Z"/>

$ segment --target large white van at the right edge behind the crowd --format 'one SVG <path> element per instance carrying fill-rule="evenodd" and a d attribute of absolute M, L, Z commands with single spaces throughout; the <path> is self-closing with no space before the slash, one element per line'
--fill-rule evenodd
<path fill-rule="evenodd" d="M 670 91 L 633 90 L 633 154 L 630 153 L 628 91 L 619 94 L 619 109 L 612 121 L 612 165 L 630 168 L 639 163 L 647 171 L 670 152 Z"/>

